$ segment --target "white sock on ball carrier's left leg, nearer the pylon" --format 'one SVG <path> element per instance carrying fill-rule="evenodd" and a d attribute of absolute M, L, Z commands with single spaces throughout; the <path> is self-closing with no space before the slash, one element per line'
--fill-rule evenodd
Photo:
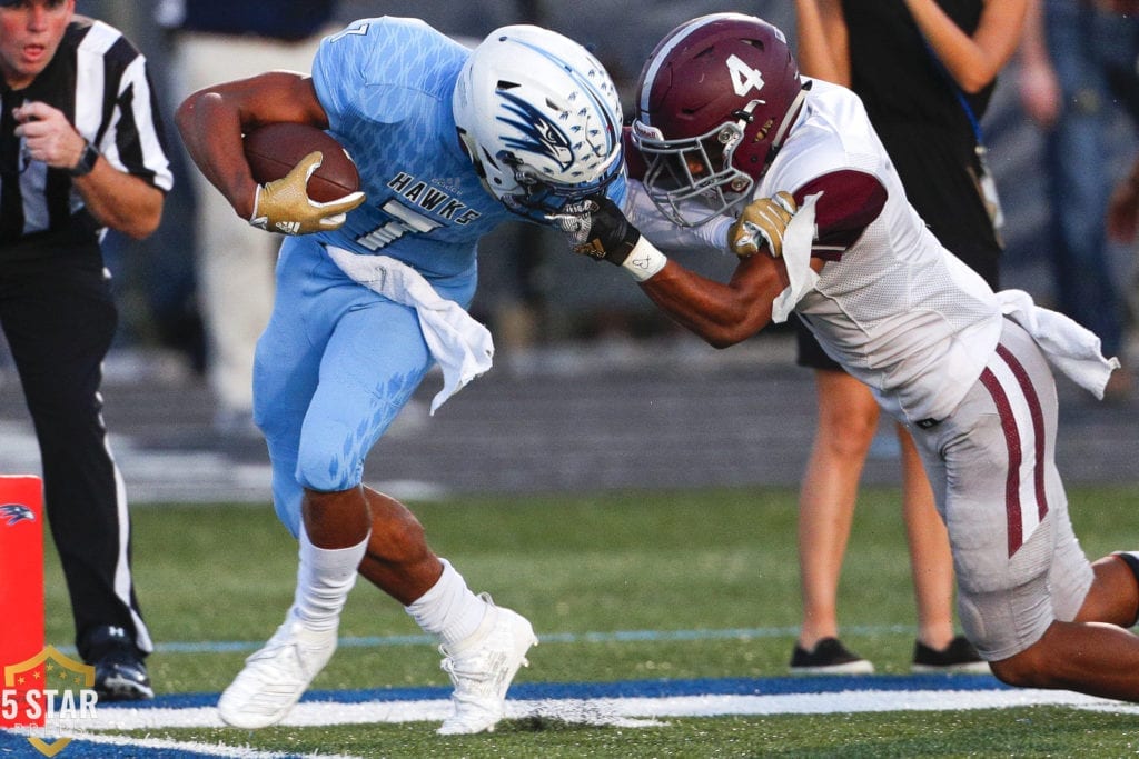
<path fill-rule="evenodd" d="M 301 526 L 301 566 L 296 571 L 293 608 L 305 627 L 314 632 L 337 628 L 367 547 L 364 537 L 346 548 L 320 548 Z"/>

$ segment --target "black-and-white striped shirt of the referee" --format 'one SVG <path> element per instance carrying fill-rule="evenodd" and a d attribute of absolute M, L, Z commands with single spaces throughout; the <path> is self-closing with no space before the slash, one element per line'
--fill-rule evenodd
<path fill-rule="evenodd" d="M 173 187 L 146 58 L 118 30 L 75 16 L 40 75 L 0 96 L 0 265 L 90 250 L 105 231 L 66 171 L 28 159 L 11 113 L 25 101 L 62 110 L 115 168 Z"/>

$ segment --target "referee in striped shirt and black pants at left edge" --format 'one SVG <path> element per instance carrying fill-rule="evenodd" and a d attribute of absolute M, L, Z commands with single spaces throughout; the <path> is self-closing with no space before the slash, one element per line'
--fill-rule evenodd
<path fill-rule="evenodd" d="M 117 324 L 99 242 L 158 226 L 173 178 L 146 60 L 75 0 L 0 0 L 0 325 L 43 463 L 79 653 L 103 700 L 153 698 L 101 363 Z"/>

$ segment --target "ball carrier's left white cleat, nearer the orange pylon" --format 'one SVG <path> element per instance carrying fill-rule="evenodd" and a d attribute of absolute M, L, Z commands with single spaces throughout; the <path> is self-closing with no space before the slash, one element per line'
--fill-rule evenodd
<path fill-rule="evenodd" d="M 264 647 L 245 660 L 245 669 L 218 701 L 227 725 L 256 729 L 280 721 L 336 651 L 336 630 L 306 629 L 292 610 Z"/>

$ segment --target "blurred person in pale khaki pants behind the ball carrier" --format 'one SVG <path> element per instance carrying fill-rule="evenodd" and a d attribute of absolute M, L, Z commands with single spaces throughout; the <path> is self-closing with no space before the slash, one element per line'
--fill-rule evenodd
<path fill-rule="evenodd" d="M 331 0 L 159 0 L 170 31 L 173 102 L 222 81 L 271 68 L 308 72 L 333 23 Z M 269 321 L 280 238 L 238 218 L 200 172 L 196 192 L 198 291 L 207 339 L 207 376 L 223 434 L 253 426 L 253 353 Z"/>

